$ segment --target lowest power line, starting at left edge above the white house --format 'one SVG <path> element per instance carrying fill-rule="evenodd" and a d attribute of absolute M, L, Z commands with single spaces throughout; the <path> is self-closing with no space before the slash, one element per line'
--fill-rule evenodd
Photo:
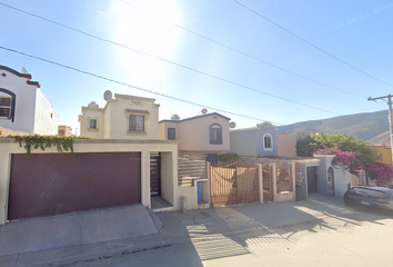
<path fill-rule="evenodd" d="M 51 63 L 51 65 L 56 65 L 56 66 L 59 66 L 59 67 L 62 67 L 62 68 L 67 68 L 67 69 L 77 71 L 77 72 L 80 72 L 80 73 L 83 73 L 83 75 L 92 76 L 94 78 L 99 78 L 99 79 L 102 79 L 102 80 L 105 80 L 105 81 L 110 81 L 110 82 L 113 82 L 113 83 L 118 83 L 118 85 L 121 85 L 121 86 L 130 87 L 130 88 L 133 88 L 133 89 L 137 89 L 137 90 L 141 90 L 141 91 L 145 91 L 145 92 L 150 92 L 150 93 L 153 93 L 153 95 L 157 95 L 157 96 L 160 96 L 160 97 L 170 98 L 170 99 L 173 99 L 173 100 L 177 100 L 177 101 L 190 103 L 190 105 L 193 105 L 193 106 L 196 106 L 196 107 L 209 108 L 209 109 L 212 109 L 212 110 L 216 110 L 216 111 L 220 111 L 220 112 L 225 112 L 225 113 L 243 117 L 243 118 L 246 118 L 246 119 L 254 119 L 254 120 L 258 120 L 258 121 L 269 121 L 269 120 L 264 120 L 264 119 L 261 119 L 261 118 L 255 118 L 255 117 L 251 117 L 251 116 L 246 116 L 246 115 L 241 115 L 241 113 L 236 113 L 236 112 L 232 112 L 232 111 L 226 111 L 226 110 L 223 110 L 223 109 L 218 109 L 218 108 L 204 106 L 204 105 L 201 105 L 201 103 L 192 102 L 192 101 L 189 101 L 189 100 L 184 100 L 184 99 L 181 99 L 181 98 L 172 97 L 172 96 L 164 95 L 164 93 L 161 93 L 161 92 L 155 92 L 155 91 L 152 91 L 152 90 L 149 90 L 149 89 L 145 89 L 145 88 L 141 88 L 141 87 L 132 86 L 132 85 L 129 85 L 129 83 L 125 83 L 125 82 L 121 82 L 121 81 L 118 81 L 118 80 L 113 80 L 111 78 L 107 78 L 107 77 L 103 77 L 103 76 L 100 76 L 100 75 L 95 75 L 95 73 L 92 73 L 92 72 L 89 72 L 89 71 L 85 71 L 85 70 L 81 70 L 81 69 L 78 69 L 78 68 L 74 68 L 74 67 L 70 67 L 70 66 L 67 66 L 67 65 L 54 62 L 52 60 L 43 59 L 43 58 L 40 58 L 40 57 L 37 57 L 37 56 L 24 53 L 24 52 L 21 52 L 21 51 L 14 50 L 14 49 L 10 49 L 10 48 L 6 48 L 6 47 L 2 47 L 2 46 L 0 46 L 0 49 L 7 50 L 7 51 L 10 51 L 10 52 L 14 52 L 14 53 L 19 53 L 19 55 L 22 55 L 24 57 L 38 59 L 38 60 L 41 60 L 41 61 L 47 62 L 47 63 Z M 283 125 L 283 123 L 275 122 L 275 121 L 271 121 L 271 122 L 274 123 L 274 125 Z"/>

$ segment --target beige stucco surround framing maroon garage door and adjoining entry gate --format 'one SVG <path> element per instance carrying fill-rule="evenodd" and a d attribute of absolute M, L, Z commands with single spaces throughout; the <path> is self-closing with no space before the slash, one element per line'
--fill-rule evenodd
<path fill-rule="evenodd" d="M 3 225 L 7 220 L 8 210 L 8 190 L 10 181 L 10 168 L 11 168 L 11 155 L 12 154 L 26 154 L 24 148 L 19 147 L 19 144 L 14 142 L 13 138 L 0 138 L 0 225 Z M 163 180 L 164 191 L 167 186 L 173 189 L 173 199 L 178 196 L 178 142 L 177 141 L 162 141 L 162 140 L 74 140 L 74 152 L 122 152 L 122 151 L 135 151 L 141 152 L 141 200 L 145 207 L 150 207 L 150 152 L 161 151 L 164 152 L 163 167 Z M 44 151 L 41 149 L 34 149 L 33 154 L 58 154 L 54 147 L 47 148 Z M 33 156 L 33 155 L 32 155 Z M 172 158 L 173 165 L 167 159 Z M 172 185 L 170 180 L 172 179 Z M 170 189 L 168 189 L 170 190 Z M 175 207 L 177 208 L 177 207 Z M 179 207 L 178 207 L 179 208 Z"/>

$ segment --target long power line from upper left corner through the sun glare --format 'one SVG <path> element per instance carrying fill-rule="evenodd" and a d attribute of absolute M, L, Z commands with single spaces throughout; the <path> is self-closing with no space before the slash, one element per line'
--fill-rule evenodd
<path fill-rule="evenodd" d="M 259 93 L 262 93 L 262 95 L 266 95 L 266 96 L 270 96 L 270 97 L 273 97 L 273 98 L 278 98 L 278 99 L 281 99 L 281 100 L 284 100 L 284 101 L 288 101 L 288 102 L 296 103 L 296 105 L 300 105 L 300 106 L 303 106 L 303 107 L 306 107 L 306 108 L 320 110 L 320 111 L 328 112 L 328 113 L 332 113 L 332 115 L 340 115 L 340 113 L 332 112 L 332 111 L 329 111 L 329 110 L 325 110 L 325 109 L 321 109 L 321 108 L 316 108 L 316 107 L 313 107 L 313 106 L 310 106 L 310 105 L 306 105 L 306 103 L 301 103 L 301 102 L 298 102 L 298 101 L 294 101 L 294 100 L 291 100 L 291 99 L 288 99 L 288 98 L 283 98 L 283 97 L 280 97 L 280 96 L 275 96 L 275 95 L 270 93 L 270 92 L 265 92 L 265 91 L 262 91 L 262 90 L 258 90 L 258 89 L 255 89 L 255 88 L 248 87 L 248 86 L 241 85 L 241 83 L 239 83 L 239 82 L 230 81 L 230 80 L 226 80 L 226 79 L 224 79 L 224 78 L 221 78 L 221 77 L 218 77 L 218 76 L 213 76 L 213 75 L 203 72 L 203 71 L 201 71 L 201 70 L 193 69 L 193 68 L 191 68 L 191 67 L 188 67 L 188 66 L 184 66 L 184 65 L 181 65 L 181 63 L 177 63 L 177 62 L 171 61 L 171 60 L 169 60 L 169 59 L 164 59 L 164 58 L 154 56 L 154 55 L 152 55 L 152 53 L 148 53 L 148 52 L 144 52 L 144 51 L 134 49 L 134 48 L 130 48 L 130 47 L 128 47 L 128 46 L 125 46 L 125 44 L 121 44 L 121 43 L 118 43 L 118 42 L 114 42 L 114 41 L 111 41 L 111 40 L 108 40 L 108 39 L 103 39 L 103 38 L 97 37 L 97 36 L 94 36 L 94 34 L 88 33 L 88 32 L 85 32 L 85 31 L 78 30 L 78 29 L 75 29 L 75 28 L 72 28 L 72 27 L 69 27 L 69 26 L 66 26 L 66 24 L 56 22 L 56 21 L 50 20 L 50 19 L 46 19 L 46 18 L 43 18 L 43 17 L 40 17 L 40 16 L 33 14 L 33 13 L 27 12 L 27 11 L 24 11 L 24 10 L 21 10 L 21 9 L 18 9 L 18 8 L 8 6 L 8 4 L 2 3 L 2 2 L 0 2 L 0 4 L 1 4 L 1 6 L 4 6 L 4 7 L 8 7 L 8 8 L 10 8 L 10 9 L 14 9 L 14 10 L 17 10 L 17 11 L 27 13 L 27 14 L 29 14 L 29 16 L 36 17 L 36 18 L 38 18 L 38 19 L 48 21 L 48 22 L 50 22 L 50 23 L 60 26 L 60 27 L 62 27 L 62 28 L 66 28 L 66 29 L 69 29 L 69 30 L 79 32 L 79 33 L 84 34 L 84 36 L 88 36 L 88 37 L 91 37 L 91 38 L 93 38 L 93 39 L 97 39 L 97 40 L 100 40 L 100 41 L 103 41 L 103 42 L 109 42 L 109 43 L 111 43 L 111 44 L 114 44 L 114 46 L 119 46 L 119 47 L 129 49 L 129 50 L 131 50 L 131 51 L 133 51 L 133 52 L 143 55 L 143 56 L 149 56 L 149 57 L 152 57 L 152 58 L 162 60 L 162 61 L 164 61 L 164 62 L 172 63 L 172 65 L 174 65 L 174 66 L 178 66 L 178 67 L 181 67 L 181 68 L 184 68 L 184 69 L 194 71 L 194 72 L 196 72 L 196 73 L 200 73 L 200 75 L 203 75 L 203 76 L 206 76 L 206 77 L 210 77 L 210 78 L 220 80 L 220 81 L 224 81 L 224 82 L 230 83 L 230 85 L 233 85 L 233 86 L 238 86 L 238 87 L 241 87 L 241 88 L 251 90 L 251 91 L 255 91 L 255 92 L 259 92 Z"/>

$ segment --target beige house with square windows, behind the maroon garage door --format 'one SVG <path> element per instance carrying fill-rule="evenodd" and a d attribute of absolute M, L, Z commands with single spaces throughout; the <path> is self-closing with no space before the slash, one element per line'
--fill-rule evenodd
<path fill-rule="evenodd" d="M 103 108 L 82 107 L 80 136 L 97 139 L 159 139 L 159 107 L 153 98 L 114 93 Z"/>

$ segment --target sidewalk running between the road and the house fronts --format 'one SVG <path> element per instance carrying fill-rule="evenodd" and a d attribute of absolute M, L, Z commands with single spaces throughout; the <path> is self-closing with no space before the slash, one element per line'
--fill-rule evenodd
<path fill-rule="evenodd" d="M 0 257 L 1 266 L 72 266 L 75 263 L 191 243 L 218 236 L 236 236 L 295 226 L 318 225 L 323 218 L 362 220 L 362 215 L 344 207 L 342 199 L 313 195 L 309 200 L 282 204 L 250 204 L 201 210 L 159 212 L 153 220 L 160 233 L 124 239 L 63 247 Z M 263 236 L 263 235 L 262 235 Z"/>

